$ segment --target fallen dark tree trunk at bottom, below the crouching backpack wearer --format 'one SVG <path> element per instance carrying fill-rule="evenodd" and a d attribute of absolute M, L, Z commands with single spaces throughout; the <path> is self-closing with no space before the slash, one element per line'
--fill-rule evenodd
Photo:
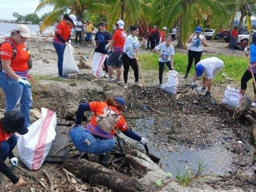
<path fill-rule="evenodd" d="M 64 167 L 77 177 L 90 180 L 93 185 L 102 185 L 113 189 L 114 192 L 141 192 L 145 186 L 136 178 L 105 168 L 99 163 L 85 159 L 67 160 Z"/>

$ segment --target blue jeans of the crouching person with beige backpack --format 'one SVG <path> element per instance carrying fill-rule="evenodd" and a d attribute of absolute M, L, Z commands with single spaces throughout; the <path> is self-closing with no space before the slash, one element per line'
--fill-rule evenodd
<path fill-rule="evenodd" d="M 71 129 L 70 137 L 76 148 L 80 151 L 80 153 L 86 152 L 94 154 L 103 154 L 107 153 L 115 146 L 114 139 L 95 139 L 82 126 L 76 126 L 75 128 Z"/>

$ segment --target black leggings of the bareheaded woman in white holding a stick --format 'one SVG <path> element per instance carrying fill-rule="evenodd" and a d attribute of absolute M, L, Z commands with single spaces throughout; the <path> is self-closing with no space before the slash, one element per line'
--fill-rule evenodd
<path fill-rule="evenodd" d="M 135 82 L 139 81 L 139 69 L 138 69 L 138 64 L 135 58 L 129 58 L 128 55 L 125 53 L 122 56 L 122 63 L 124 66 L 124 80 L 125 83 L 127 83 L 128 80 L 128 72 L 129 72 L 129 68 L 131 66 L 131 68 L 134 70 L 134 77 L 135 77 Z"/>

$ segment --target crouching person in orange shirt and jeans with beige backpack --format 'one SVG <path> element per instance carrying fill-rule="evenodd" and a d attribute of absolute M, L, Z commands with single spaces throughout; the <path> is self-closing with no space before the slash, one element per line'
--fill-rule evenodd
<path fill-rule="evenodd" d="M 115 146 L 114 134 L 119 128 L 123 134 L 145 145 L 147 140 L 128 127 L 122 116 L 125 99 L 120 96 L 107 97 L 105 102 L 88 102 L 79 105 L 76 121 L 70 137 L 79 152 L 99 154 L 102 164 L 107 164 L 106 153 Z M 86 127 L 81 126 L 84 111 L 94 112 Z"/>

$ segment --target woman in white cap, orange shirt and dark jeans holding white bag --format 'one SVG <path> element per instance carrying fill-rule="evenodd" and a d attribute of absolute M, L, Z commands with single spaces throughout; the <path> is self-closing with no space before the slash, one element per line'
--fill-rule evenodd
<path fill-rule="evenodd" d="M 58 23 L 55 36 L 53 38 L 53 46 L 58 55 L 58 76 L 63 78 L 68 78 L 67 75 L 63 76 L 63 55 L 65 50 L 65 45 L 71 43 L 71 27 L 76 25 L 75 15 L 64 16 L 64 20 Z"/>

